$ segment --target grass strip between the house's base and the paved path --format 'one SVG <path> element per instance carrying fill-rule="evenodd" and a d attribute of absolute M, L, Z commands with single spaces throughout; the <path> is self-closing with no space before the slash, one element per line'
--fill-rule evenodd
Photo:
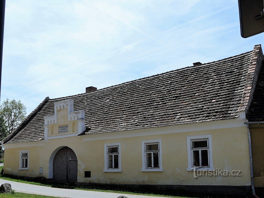
<path fill-rule="evenodd" d="M 3 169 L 3 166 L 0 167 L 0 172 Z M 131 194 L 131 195 L 148 195 L 148 196 L 160 196 L 160 197 L 176 197 L 176 198 L 233 198 L 234 196 L 218 196 L 218 195 L 203 195 L 203 194 L 181 194 L 177 193 L 175 194 L 153 194 L 149 193 L 147 191 L 136 191 L 133 189 L 122 188 L 117 186 L 101 186 L 101 185 L 89 185 L 89 186 L 83 186 L 83 185 L 70 185 L 70 184 L 58 184 L 58 183 L 50 183 L 42 181 L 41 178 L 38 181 L 32 181 L 28 179 L 19 179 L 17 177 L 13 176 L 7 176 L 7 175 L 0 175 L 0 178 L 3 180 L 9 180 L 14 182 L 20 182 L 20 183 L 28 183 L 33 185 L 39 185 L 39 186 L 48 186 L 53 188 L 67 188 L 67 189 L 77 189 L 77 190 L 88 190 L 88 191 L 97 191 L 97 192 L 114 192 L 114 193 L 120 193 L 120 194 Z M 236 196 L 239 197 L 239 196 Z M 41 197 L 42 198 L 42 197 Z"/>

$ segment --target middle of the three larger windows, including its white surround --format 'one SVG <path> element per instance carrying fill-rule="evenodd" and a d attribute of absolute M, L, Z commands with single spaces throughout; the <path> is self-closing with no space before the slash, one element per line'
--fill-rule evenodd
<path fill-rule="evenodd" d="M 141 171 L 163 171 L 161 140 L 142 141 Z"/>

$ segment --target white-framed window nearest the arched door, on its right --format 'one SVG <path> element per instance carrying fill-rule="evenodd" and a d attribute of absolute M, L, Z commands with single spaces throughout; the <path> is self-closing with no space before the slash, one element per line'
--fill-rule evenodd
<path fill-rule="evenodd" d="M 120 143 L 105 144 L 104 172 L 122 172 Z"/>

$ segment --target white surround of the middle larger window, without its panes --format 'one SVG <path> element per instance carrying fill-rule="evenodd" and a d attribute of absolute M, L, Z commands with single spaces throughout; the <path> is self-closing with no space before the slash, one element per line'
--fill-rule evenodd
<path fill-rule="evenodd" d="M 159 144 L 159 168 L 147 168 L 147 162 L 146 162 L 146 152 L 145 152 L 145 145 L 146 144 Z M 142 140 L 142 172 L 155 172 L 155 171 L 163 171 L 162 168 L 162 145 L 161 145 L 161 139 L 158 140 Z"/>

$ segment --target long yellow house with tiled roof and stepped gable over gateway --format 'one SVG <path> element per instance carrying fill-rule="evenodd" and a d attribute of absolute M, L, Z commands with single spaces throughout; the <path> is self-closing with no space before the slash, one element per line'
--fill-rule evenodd
<path fill-rule="evenodd" d="M 264 187 L 263 60 L 256 45 L 211 63 L 47 97 L 2 141 L 5 174 L 254 193 Z"/>

